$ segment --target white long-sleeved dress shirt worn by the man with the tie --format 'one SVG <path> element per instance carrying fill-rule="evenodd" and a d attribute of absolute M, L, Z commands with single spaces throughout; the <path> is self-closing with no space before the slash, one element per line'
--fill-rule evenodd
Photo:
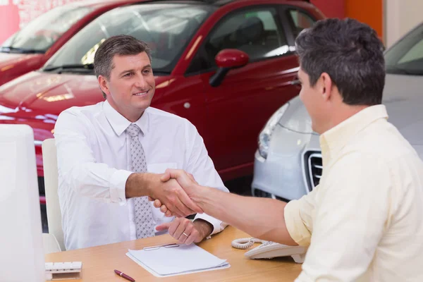
<path fill-rule="evenodd" d="M 185 118 L 149 107 L 135 122 L 145 150 L 147 171 L 180 168 L 200 185 L 228 192 L 202 137 Z M 66 250 L 135 240 L 133 199 L 125 198 L 130 176 L 130 121 L 108 102 L 72 107 L 57 119 L 54 137 L 59 168 L 59 202 Z M 172 221 L 152 204 L 157 225 Z M 207 214 L 196 219 L 212 223 L 212 234 L 226 223 Z"/>

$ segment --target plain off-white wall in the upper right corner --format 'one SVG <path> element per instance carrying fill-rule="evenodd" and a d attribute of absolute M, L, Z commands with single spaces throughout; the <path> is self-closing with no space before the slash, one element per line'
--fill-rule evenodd
<path fill-rule="evenodd" d="M 384 42 L 396 40 L 423 21 L 423 0 L 384 0 Z"/>

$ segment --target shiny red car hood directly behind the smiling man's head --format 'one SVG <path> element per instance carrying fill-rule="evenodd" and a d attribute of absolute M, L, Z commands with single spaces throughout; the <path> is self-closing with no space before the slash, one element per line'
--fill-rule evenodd
<path fill-rule="evenodd" d="M 166 79 L 168 77 L 157 77 L 156 85 Z M 102 101 L 104 98 L 95 75 L 33 71 L 0 87 L 2 116 L 58 116 L 71 106 L 87 106 Z"/>

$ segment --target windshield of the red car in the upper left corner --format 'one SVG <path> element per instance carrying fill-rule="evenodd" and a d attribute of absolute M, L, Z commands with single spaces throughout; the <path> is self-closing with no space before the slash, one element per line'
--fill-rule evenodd
<path fill-rule="evenodd" d="M 44 53 L 64 32 L 90 11 L 92 11 L 90 7 L 75 4 L 53 8 L 6 39 L 0 51 Z"/>

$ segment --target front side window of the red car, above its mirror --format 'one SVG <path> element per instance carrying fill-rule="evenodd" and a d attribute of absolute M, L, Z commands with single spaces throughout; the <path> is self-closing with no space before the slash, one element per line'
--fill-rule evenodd
<path fill-rule="evenodd" d="M 286 37 L 276 20 L 275 8 L 253 8 L 225 16 L 209 34 L 192 61 L 188 73 L 214 68 L 214 57 L 223 49 L 238 49 L 250 61 L 280 56 Z"/>

